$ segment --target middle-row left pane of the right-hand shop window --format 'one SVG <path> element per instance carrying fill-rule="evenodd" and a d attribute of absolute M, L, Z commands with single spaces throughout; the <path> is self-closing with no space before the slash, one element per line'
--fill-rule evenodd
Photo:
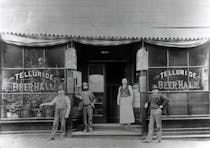
<path fill-rule="evenodd" d="M 149 89 L 152 85 L 157 85 L 162 91 L 168 90 L 168 76 L 164 75 L 167 69 L 150 68 L 149 69 Z"/>

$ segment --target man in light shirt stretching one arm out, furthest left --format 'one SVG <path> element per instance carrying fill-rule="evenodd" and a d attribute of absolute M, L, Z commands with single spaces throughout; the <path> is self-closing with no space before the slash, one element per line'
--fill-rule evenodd
<path fill-rule="evenodd" d="M 55 134 L 58 130 L 59 120 L 61 122 L 61 138 L 65 136 L 65 121 L 66 118 L 68 118 L 69 116 L 71 110 L 71 103 L 69 97 L 64 95 L 64 93 L 64 90 L 61 89 L 58 91 L 58 96 L 56 96 L 51 102 L 40 104 L 40 107 L 45 105 L 55 105 L 54 122 L 49 140 L 55 139 Z"/>

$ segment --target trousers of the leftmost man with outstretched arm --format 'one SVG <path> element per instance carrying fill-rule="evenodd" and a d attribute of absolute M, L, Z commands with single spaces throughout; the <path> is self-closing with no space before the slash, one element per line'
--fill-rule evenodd
<path fill-rule="evenodd" d="M 59 121 L 61 122 L 61 136 L 65 135 L 65 130 L 66 130 L 65 114 L 66 114 L 66 109 L 55 109 L 51 137 L 55 137 L 55 134 L 58 130 Z"/>

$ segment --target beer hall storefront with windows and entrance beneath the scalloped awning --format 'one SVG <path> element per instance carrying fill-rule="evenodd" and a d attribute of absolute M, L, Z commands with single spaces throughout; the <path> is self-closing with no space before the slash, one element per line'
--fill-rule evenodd
<path fill-rule="evenodd" d="M 118 123 L 116 96 L 124 77 L 133 86 L 136 124 L 142 122 L 143 103 L 153 84 L 169 98 L 167 118 L 209 118 L 209 41 L 182 48 L 146 40 L 120 43 L 77 40 L 31 47 L 2 41 L 1 122 L 52 121 L 53 107 L 39 104 L 51 101 L 62 87 L 72 101 L 73 122 L 82 124 L 79 100 L 73 96 L 87 81 L 97 99 L 94 122 Z"/>

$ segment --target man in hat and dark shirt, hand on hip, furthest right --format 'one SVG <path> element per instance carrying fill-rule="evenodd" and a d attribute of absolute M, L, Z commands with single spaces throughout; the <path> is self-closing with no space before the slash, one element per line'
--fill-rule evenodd
<path fill-rule="evenodd" d="M 150 143 L 153 137 L 154 123 L 156 122 L 157 126 L 157 140 L 161 142 L 162 136 L 162 109 L 168 103 L 167 97 L 159 94 L 157 85 L 153 85 L 152 94 L 149 96 L 149 99 L 146 101 L 144 108 L 149 108 L 150 117 L 149 117 L 149 132 L 146 137 L 146 140 L 142 142 Z"/>

